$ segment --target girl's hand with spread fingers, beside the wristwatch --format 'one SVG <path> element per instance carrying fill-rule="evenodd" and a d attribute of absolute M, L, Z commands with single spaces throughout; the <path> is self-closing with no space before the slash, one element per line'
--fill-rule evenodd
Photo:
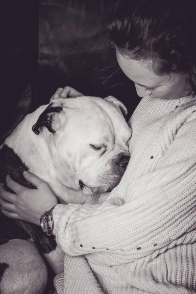
<path fill-rule="evenodd" d="M 46 182 L 30 172 L 24 172 L 24 176 L 37 189 L 26 188 L 7 175 L 7 186 L 16 194 L 5 191 L 0 184 L 0 210 L 8 218 L 40 225 L 40 217 L 57 205 L 58 201 Z"/>

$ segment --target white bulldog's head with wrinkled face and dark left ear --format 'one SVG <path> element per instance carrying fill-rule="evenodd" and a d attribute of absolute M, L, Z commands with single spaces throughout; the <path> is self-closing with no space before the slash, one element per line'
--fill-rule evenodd
<path fill-rule="evenodd" d="M 123 103 L 109 96 L 57 99 L 32 130 L 45 136 L 59 180 L 74 189 L 113 189 L 128 164 L 131 129 Z M 69 181 L 69 185 L 68 185 Z"/>

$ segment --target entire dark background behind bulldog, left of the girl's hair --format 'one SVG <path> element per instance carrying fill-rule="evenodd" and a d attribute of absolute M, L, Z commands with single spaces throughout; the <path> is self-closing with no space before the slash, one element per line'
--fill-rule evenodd
<path fill-rule="evenodd" d="M 140 101 L 120 70 L 106 24 L 115 0 L 7 0 L 1 13 L 0 144 L 58 87 Z"/>

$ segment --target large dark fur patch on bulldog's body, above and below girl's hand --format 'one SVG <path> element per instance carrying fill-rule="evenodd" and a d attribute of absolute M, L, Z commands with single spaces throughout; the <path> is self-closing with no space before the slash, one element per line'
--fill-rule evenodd
<path fill-rule="evenodd" d="M 0 149 L 0 183 L 6 186 L 5 176 L 10 174 L 13 180 L 28 188 L 34 188 L 23 176 L 23 172 L 28 168 L 14 150 L 6 145 Z M 54 236 L 44 234 L 41 227 L 27 221 L 9 219 L 0 212 L 0 243 L 11 239 L 32 238 L 38 249 L 42 253 L 49 253 L 56 248 Z"/>

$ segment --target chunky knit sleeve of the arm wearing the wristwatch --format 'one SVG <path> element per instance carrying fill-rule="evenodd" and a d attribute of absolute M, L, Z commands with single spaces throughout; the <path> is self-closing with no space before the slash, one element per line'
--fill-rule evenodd
<path fill-rule="evenodd" d="M 179 126 L 153 172 L 133 179 L 126 172 L 130 184 L 122 199 L 129 201 L 115 189 L 102 203 L 58 205 L 55 235 L 61 248 L 120 265 L 185 242 L 185 233 L 196 226 L 195 130 L 193 116 Z"/>

